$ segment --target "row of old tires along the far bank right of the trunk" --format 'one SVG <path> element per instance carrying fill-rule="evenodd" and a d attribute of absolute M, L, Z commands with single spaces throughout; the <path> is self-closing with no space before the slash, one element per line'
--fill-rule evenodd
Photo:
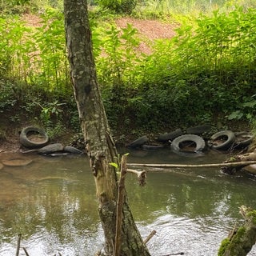
<path fill-rule="evenodd" d="M 202 153 L 207 149 L 212 150 L 241 150 L 245 149 L 253 141 L 254 136 L 249 132 L 234 133 L 230 130 L 221 130 L 212 136 L 206 136 L 211 130 L 210 125 L 194 126 L 186 129 L 184 133 L 181 129 L 173 132 L 160 134 L 158 142 L 164 145 L 170 142 L 170 148 L 176 153 Z M 128 147 L 142 148 L 143 150 L 157 150 L 163 145 L 147 145 L 149 138 L 143 136 L 134 142 L 131 142 Z"/>

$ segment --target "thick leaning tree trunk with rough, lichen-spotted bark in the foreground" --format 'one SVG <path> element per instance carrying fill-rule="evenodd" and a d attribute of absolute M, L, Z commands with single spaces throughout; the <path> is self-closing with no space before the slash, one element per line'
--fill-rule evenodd
<path fill-rule="evenodd" d="M 96 184 L 99 216 L 105 234 L 104 249 L 106 255 L 112 256 L 118 186 L 110 162 L 116 162 L 117 150 L 98 88 L 86 1 L 64 0 L 64 14 L 74 96 Z M 150 255 L 134 223 L 126 195 L 120 255 Z"/>

